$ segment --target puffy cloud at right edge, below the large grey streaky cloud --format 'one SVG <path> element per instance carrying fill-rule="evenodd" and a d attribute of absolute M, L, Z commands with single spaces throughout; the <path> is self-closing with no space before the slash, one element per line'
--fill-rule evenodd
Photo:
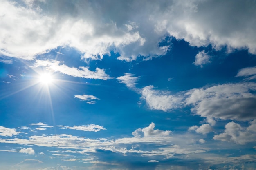
<path fill-rule="evenodd" d="M 235 122 L 229 122 L 225 125 L 225 131 L 215 135 L 213 139 L 220 141 L 234 142 L 236 144 L 246 144 L 256 141 L 256 120 L 245 128 Z"/>

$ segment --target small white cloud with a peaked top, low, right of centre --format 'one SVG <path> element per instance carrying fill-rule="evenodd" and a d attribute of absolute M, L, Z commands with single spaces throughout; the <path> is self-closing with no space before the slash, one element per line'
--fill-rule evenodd
<path fill-rule="evenodd" d="M 155 124 L 152 122 L 146 128 L 139 128 L 132 132 L 132 135 L 135 137 L 168 137 L 170 136 L 171 131 L 169 130 L 154 130 Z"/>

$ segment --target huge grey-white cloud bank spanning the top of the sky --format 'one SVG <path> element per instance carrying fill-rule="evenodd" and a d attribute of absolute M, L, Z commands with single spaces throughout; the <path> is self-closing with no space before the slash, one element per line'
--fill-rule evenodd
<path fill-rule="evenodd" d="M 121 60 L 150 59 L 166 53 L 169 46 L 159 46 L 166 35 L 191 46 L 212 44 L 215 49 L 256 53 L 253 0 L 61 1 L 61 7 L 58 0 L 25 2 L 1 3 L 3 55 L 32 59 L 58 46 L 72 46 L 84 58 L 102 58 L 114 50 Z"/>

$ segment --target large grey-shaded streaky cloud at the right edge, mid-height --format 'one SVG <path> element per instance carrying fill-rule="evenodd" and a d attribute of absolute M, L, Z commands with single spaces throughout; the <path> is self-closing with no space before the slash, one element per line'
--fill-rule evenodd
<path fill-rule="evenodd" d="M 192 89 L 185 93 L 186 105 L 196 114 L 214 119 L 250 121 L 256 118 L 255 83 L 222 84 L 209 88 Z"/>

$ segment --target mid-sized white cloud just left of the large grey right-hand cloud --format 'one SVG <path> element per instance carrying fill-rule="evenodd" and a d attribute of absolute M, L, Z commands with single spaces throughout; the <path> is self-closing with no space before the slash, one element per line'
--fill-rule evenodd
<path fill-rule="evenodd" d="M 141 98 L 145 99 L 149 108 L 165 112 L 179 108 L 182 97 L 170 95 L 168 91 L 154 90 L 154 86 L 146 86 L 141 90 Z"/>

